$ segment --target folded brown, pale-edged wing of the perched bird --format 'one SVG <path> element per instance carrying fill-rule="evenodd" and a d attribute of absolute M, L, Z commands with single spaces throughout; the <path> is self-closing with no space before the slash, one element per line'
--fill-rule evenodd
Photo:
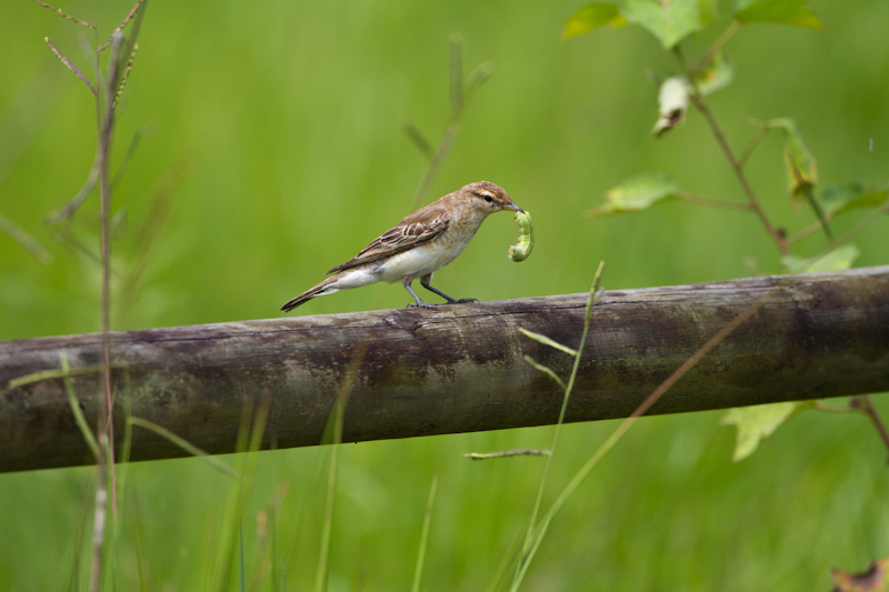
<path fill-rule="evenodd" d="M 333 273 L 344 269 L 354 268 L 362 263 L 379 261 L 393 254 L 412 249 L 418 244 L 429 242 L 448 228 L 450 217 L 446 209 L 422 208 L 408 215 L 397 227 L 384 232 L 373 242 L 364 247 L 360 253 L 346 263 L 341 263 L 328 271 Z"/>

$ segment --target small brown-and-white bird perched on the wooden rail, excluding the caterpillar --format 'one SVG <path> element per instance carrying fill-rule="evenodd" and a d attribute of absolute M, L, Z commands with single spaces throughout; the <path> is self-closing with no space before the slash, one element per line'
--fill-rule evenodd
<path fill-rule="evenodd" d="M 495 183 L 478 181 L 462 187 L 408 214 L 352 259 L 327 272 L 333 275 L 293 298 L 281 310 L 289 312 L 316 297 L 379 281 L 401 281 L 414 300 L 408 307 L 438 309 L 438 304 L 423 302 L 411 288 L 414 279 L 443 298 L 446 304 L 478 302 L 475 298 L 453 299 L 432 288 L 432 273 L 457 259 L 485 219 L 501 210 L 525 213 Z"/>

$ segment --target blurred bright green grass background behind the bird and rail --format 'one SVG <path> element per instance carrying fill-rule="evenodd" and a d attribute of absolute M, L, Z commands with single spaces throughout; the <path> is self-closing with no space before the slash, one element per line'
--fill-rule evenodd
<path fill-rule="evenodd" d="M 560 40 L 582 4 L 152 2 L 114 146 L 120 162 L 130 138 L 149 132 L 114 195 L 116 211 L 126 211 L 114 242 L 116 284 L 137 265 L 146 273 L 126 310 L 113 311 L 116 328 L 277 317 L 284 301 L 408 213 L 427 162 L 401 128 L 410 121 L 432 141 L 441 133 L 453 31 L 463 38 L 466 72 L 482 61 L 496 72 L 470 103 L 429 199 L 495 181 L 533 213 L 537 245 L 522 264 L 509 262 L 518 229 L 511 217 L 493 217 L 436 275 L 440 289 L 481 300 L 580 292 L 600 259 L 607 289 L 779 272 L 777 252 L 750 214 L 668 203 L 633 215 L 585 215 L 608 188 L 648 170 L 669 172 L 695 193 L 742 195 L 698 113 L 662 139 L 650 137 L 657 89 L 646 72 L 675 71 L 650 36 L 629 27 Z M 60 6 L 103 34 L 130 8 L 120 0 Z M 729 46 L 736 81 L 712 96 L 711 107 L 739 150 L 753 133 L 749 118 L 790 116 L 823 181 L 883 181 L 889 4 L 812 6 L 823 31 L 745 28 Z M 690 39 L 687 56 L 700 56 L 726 24 L 723 17 Z M 71 241 L 53 241 L 41 221 L 77 192 L 93 157 L 91 96 L 42 40 L 50 37 L 86 70 L 81 32 L 34 3 L 4 2 L 0 213 L 40 240 L 53 261 L 41 264 L 0 234 L 0 339 L 99 329 L 99 268 Z M 777 136 L 768 138 L 749 171 L 772 220 L 792 231 L 812 219 L 788 204 L 780 148 Z M 147 248 L 137 237 L 156 220 L 158 188 L 183 165 L 190 172 Z M 72 230 L 92 252 L 94 202 Z M 840 221 L 838 230 L 848 225 Z M 886 263 L 886 237 L 883 221 L 862 232 L 857 264 Z M 798 252 L 822 247 L 816 235 Z M 398 285 L 373 285 L 313 300 L 297 313 L 409 300 Z M 557 518 L 526 588 L 826 590 L 829 568 L 860 570 L 889 554 L 886 451 L 862 418 L 803 414 L 732 464 L 733 433 L 718 425 L 719 415 L 637 424 Z M 615 427 L 566 427 L 545 504 Z M 409 586 L 433 474 L 423 588 L 487 586 L 526 525 L 543 461 L 481 463 L 461 454 L 546 448 L 551 433 L 344 446 L 330 588 Z M 288 590 L 314 581 L 328 456 L 320 449 L 258 456 L 242 519 L 248 588 L 280 590 L 282 564 Z M 93 483 L 92 469 L 0 475 L 0 589 L 86 585 Z M 231 486 L 198 459 L 130 466 L 114 544 L 118 588 L 136 589 L 140 573 L 147 590 L 218 581 Z M 262 515 L 270 518 L 264 543 Z"/>

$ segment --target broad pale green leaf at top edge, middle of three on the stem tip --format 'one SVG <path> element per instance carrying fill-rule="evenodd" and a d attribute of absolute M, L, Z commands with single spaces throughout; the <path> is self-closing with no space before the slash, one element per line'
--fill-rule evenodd
<path fill-rule="evenodd" d="M 703 26 L 699 0 L 623 0 L 620 13 L 657 37 L 663 49 L 672 49 Z"/>

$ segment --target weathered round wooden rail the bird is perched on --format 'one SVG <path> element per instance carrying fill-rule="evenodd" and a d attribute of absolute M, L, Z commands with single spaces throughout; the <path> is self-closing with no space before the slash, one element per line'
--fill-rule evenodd
<path fill-rule="evenodd" d="M 111 334 L 117 445 L 124 412 L 211 453 L 234 452 L 268 411 L 263 446 L 322 441 L 338 394 L 344 442 L 556 422 L 562 393 L 525 355 L 567 378 L 587 294 L 280 318 Z M 595 307 L 567 421 L 623 418 L 747 308 L 752 318 L 651 413 L 889 390 L 889 267 L 606 292 Z M 0 342 L 0 471 L 94 462 L 66 394 L 60 354 L 88 419 L 101 335 Z M 90 420 L 91 421 L 91 420 Z M 186 455 L 133 428 L 132 460 Z"/>

